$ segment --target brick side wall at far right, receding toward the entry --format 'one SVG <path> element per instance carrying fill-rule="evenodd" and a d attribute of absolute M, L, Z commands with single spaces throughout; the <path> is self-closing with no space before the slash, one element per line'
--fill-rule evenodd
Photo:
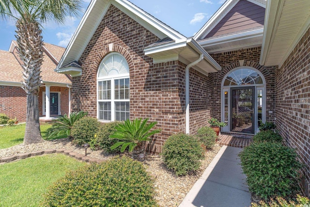
<path fill-rule="evenodd" d="M 306 164 L 302 187 L 310 196 L 310 30 L 276 70 L 276 86 L 277 129 Z"/>

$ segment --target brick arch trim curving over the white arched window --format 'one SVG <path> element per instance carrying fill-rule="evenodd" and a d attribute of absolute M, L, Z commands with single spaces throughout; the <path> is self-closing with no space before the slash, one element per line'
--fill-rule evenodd
<path fill-rule="evenodd" d="M 98 57 L 95 59 L 94 61 L 94 65 L 95 65 L 95 68 L 96 68 L 96 72 L 98 72 L 98 69 L 99 69 L 99 65 L 100 63 L 102 62 L 103 58 L 106 57 L 109 53 L 111 52 L 118 52 L 120 53 L 121 55 L 124 56 L 124 58 L 126 59 L 127 61 L 127 64 L 129 66 L 129 72 L 131 70 L 134 69 L 134 62 L 133 62 L 133 59 L 130 55 L 130 53 L 128 52 L 128 50 L 120 45 L 114 45 L 112 46 L 112 49 L 110 50 L 109 49 L 109 45 L 106 46 L 98 55 Z"/>

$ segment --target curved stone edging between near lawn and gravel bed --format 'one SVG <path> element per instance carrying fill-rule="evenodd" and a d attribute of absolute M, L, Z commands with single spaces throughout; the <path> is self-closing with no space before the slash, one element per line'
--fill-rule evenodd
<path fill-rule="evenodd" d="M 44 154 L 53 154 L 53 153 L 62 153 L 64 155 L 68 155 L 72 158 L 82 160 L 85 162 L 93 163 L 101 163 L 105 161 L 104 159 L 98 159 L 98 158 L 92 158 L 85 156 L 83 154 L 79 154 L 78 152 L 74 152 L 73 149 L 45 149 L 45 150 L 40 150 L 40 151 L 35 151 L 35 152 L 29 152 L 29 153 L 23 153 L 23 154 L 17 154 L 11 157 L 4 157 L 0 159 L 0 164 L 8 163 L 8 162 L 13 162 L 21 159 L 26 159 L 34 156 L 39 156 L 39 155 L 44 155 Z"/>

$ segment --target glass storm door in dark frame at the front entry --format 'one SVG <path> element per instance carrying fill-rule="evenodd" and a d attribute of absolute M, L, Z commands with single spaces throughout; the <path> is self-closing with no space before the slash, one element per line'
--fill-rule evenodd
<path fill-rule="evenodd" d="M 231 131 L 254 134 L 255 87 L 231 88 Z"/>

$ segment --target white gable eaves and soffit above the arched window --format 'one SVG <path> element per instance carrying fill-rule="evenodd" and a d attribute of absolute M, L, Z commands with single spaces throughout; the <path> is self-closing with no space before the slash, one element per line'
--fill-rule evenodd
<path fill-rule="evenodd" d="M 56 68 L 57 71 L 63 65 L 78 61 L 111 4 L 161 39 L 167 36 L 176 42 L 186 39 L 179 32 L 127 0 L 92 0 Z"/>

